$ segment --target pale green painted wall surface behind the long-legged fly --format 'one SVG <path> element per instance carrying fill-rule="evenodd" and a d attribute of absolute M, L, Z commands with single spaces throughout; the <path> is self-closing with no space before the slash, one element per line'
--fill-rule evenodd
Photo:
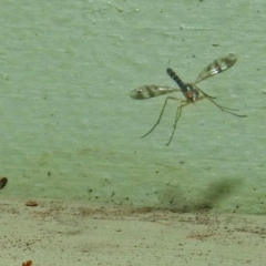
<path fill-rule="evenodd" d="M 193 211 L 266 213 L 264 1 L 1 1 L 1 176 L 6 196 Z M 238 61 L 201 88 L 207 101 L 133 101 L 144 84 L 193 81 L 215 58 Z M 181 96 L 181 95 L 180 95 Z"/>

